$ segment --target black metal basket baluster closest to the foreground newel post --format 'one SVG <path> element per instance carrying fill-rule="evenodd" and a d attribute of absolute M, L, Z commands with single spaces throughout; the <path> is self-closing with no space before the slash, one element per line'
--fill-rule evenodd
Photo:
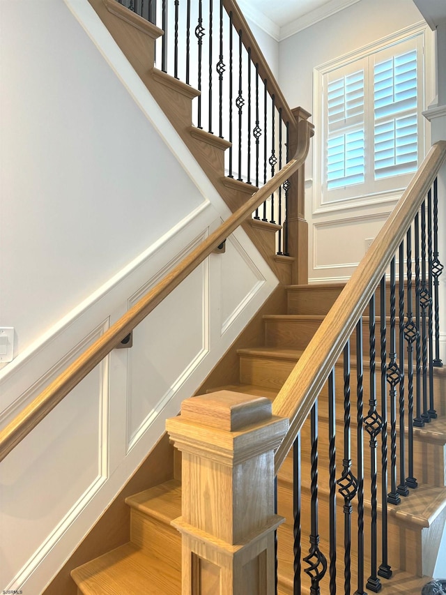
<path fill-rule="evenodd" d="M 319 549 L 319 526 L 318 526 L 318 400 L 314 402 L 311 412 L 311 436 L 312 436 L 312 532 L 309 536 L 309 554 L 305 556 L 304 562 L 308 568 L 304 568 L 312 580 L 310 595 L 321 595 L 319 583 L 327 571 L 327 559 Z"/>

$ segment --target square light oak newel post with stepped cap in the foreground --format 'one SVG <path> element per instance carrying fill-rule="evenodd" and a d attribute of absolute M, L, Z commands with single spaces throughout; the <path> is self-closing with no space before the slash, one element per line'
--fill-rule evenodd
<path fill-rule="evenodd" d="M 167 431 L 183 453 L 183 595 L 275 592 L 274 451 L 289 422 L 267 398 L 230 391 L 183 401 Z"/>

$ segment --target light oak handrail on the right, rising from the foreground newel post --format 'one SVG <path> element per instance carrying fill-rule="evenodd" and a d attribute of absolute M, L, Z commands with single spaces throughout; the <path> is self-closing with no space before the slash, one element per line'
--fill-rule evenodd
<path fill-rule="evenodd" d="M 275 398 L 273 414 L 290 422 L 289 432 L 275 453 L 276 472 L 445 160 L 446 141 L 437 142 Z"/>

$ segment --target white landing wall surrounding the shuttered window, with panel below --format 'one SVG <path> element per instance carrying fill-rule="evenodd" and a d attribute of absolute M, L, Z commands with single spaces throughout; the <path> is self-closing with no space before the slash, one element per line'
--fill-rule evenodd
<path fill-rule="evenodd" d="M 316 66 L 420 21 L 422 16 L 412 0 L 361 0 L 281 41 L 279 84 L 289 105 L 302 105 L 313 112 Z M 431 99 L 432 92 L 426 89 L 426 105 Z M 318 142 L 318 134 L 316 128 L 313 145 Z M 310 149 L 305 206 L 309 223 L 309 278 L 313 282 L 346 280 L 364 255 L 365 239 L 376 236 L 395 199 L 315 213 L 318 197 L 313 193 L 313 155 Z M 333 246 L 337 249 L 333 250 Z"/>

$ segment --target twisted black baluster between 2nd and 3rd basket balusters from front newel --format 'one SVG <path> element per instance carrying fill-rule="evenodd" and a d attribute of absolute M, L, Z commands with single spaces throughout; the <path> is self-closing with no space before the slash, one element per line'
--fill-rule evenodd
<path fill-rule="evenodd" d="M 363 363 L 362 363 L 362 317 L 356 325 L 356 375 L 357 375 L 357 590 L 364 592 L 364 430 L 362 427 Z"/>

